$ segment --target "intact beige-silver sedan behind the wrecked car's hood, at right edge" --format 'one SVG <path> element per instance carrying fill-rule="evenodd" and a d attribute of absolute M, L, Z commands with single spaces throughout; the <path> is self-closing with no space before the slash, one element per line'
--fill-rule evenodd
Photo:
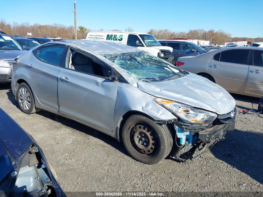
<path fill-rule="evenodd" d="M 195 57 L 179 58 L 176 65 L 206 77 L 228 92 L 263 96 L 263 48 L 223 48 Z"/>

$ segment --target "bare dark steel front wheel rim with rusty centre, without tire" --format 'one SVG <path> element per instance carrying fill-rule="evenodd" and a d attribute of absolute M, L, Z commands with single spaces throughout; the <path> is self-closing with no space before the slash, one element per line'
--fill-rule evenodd
<path fill-rule="evenodd" d="M 129 143 L 142 157 L 151 157 L 157 150 L 157 137 L 154 129 L 144 123 L 134 123 L 129 129 Z"/>

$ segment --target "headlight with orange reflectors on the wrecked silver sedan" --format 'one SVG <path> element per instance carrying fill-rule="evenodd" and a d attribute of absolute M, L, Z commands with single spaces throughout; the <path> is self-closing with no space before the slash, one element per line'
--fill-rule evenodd
<path fill-rule="evenodd" d="M 193 108 L 192 106 L 170 101 L 162 98 L 155 98 L 155 102 L 171 111 L 174 115 L 185 122 L 194 124 L 207 124 L 217 118 L 217 114 Z"/>

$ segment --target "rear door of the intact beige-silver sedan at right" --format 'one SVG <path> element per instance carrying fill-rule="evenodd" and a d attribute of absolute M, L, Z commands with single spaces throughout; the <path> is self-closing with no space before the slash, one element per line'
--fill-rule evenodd
<path fill-rule="evenodd" d="M 228 49 L 215 54 L 208 61 L 208 73 L 223 88 L 244 92 L 248 79 L 248 52 L 247 49 Z"/>

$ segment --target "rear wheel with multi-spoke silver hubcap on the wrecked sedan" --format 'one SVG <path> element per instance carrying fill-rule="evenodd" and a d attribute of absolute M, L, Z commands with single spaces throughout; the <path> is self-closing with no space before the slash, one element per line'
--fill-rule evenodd
<path fill-rule="evenodd" d="M 25 89 L 28 92 L 28 93 L 26 92 L 26 95 L 25 95 L 26 97 L 23 96 L 24 91 L 22 91 Z M 33 114 L 33 113 L 39 112 L 41 110 L 41 109 L 35 107 L 35 99 L 34 99 L 33 93 L 31 91 L 30 87 L 24 82 L 19 84 L 19 86 L 17 88 L 17 92 L 16 92 L 16 98 L 17 98 L 20 109 L 26 114 Z M 27 100 L 25 100 L 25 99 L 27 99 Z M 30 106 L 28 103 L 30 104 Z"/>

